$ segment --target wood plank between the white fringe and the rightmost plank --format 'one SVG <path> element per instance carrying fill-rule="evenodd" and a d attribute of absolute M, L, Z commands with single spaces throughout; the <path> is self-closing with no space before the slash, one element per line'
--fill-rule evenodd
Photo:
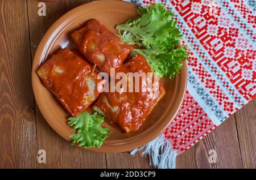
<path fill-rule="evenodd" d="M 209 163 L 209 150 L 215 149 L 216 163 Z M 210 132 L 201 142 L 177 156 L 177 168 L 242 168 L 234 115 Z"/>

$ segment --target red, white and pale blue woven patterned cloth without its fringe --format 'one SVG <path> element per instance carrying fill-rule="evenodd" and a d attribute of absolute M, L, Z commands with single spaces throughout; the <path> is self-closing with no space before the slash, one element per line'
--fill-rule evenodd
<path fill-rule="evenodd" d="M 179 154 L 256 96 L 256 2 L 130 2 L 166 4 L 175 14 L 190 53 L 184 102 L 164 132 Z"/>

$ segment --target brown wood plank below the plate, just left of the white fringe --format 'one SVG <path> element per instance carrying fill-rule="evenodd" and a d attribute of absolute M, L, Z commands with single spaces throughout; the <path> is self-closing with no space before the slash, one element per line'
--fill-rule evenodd
<path fill-rule="evenodd" d="M 131 156 L 129 152 L 124 153 L 106 153 L 108 168 L 154 168 L 148 165 L 148 158 L 136 153 Z"/>

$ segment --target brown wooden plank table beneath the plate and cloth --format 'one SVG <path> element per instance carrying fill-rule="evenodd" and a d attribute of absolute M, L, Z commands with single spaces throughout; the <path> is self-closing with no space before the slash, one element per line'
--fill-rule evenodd
<path fill-rule="evenodd" d="M 46 123 L 34 101 L 31 62 L 40 39 L 61 15 L 86 0 L 47 3 L 0 0 L 0 168 L 152 168 L 139 154 L 96 153 L 69 145 Z M 177 157 L 177 168 L 256 168 L 256 100 Z M 46 164 L 39 164 L 39 149 Z M 209 149 L 217 152 L 209 164 Z"/>

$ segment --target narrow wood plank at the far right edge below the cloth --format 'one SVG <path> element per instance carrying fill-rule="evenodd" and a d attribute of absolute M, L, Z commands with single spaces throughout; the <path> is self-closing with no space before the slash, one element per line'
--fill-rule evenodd
<path fill-rule="evenodd" d="M 236 112 L 243 168 L 256 168 L 256 99 Z"/>

